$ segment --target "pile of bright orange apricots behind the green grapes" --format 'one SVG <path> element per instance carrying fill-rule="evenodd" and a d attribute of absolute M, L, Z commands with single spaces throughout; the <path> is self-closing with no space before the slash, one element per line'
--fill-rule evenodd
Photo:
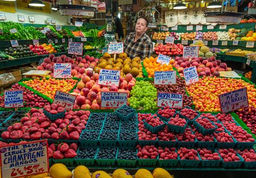
<path fill-rule="evenodd" d="M 156 60 L 158 60 L 158 57 L 152 57 L 147 58 L 143 60 L 143 65 L 146 68 L 146 71 L 148 73 L 148 77 L 154 77 L 155 71 L 173 71 L 171 64 L 160 64 L 156 63 Z"/>

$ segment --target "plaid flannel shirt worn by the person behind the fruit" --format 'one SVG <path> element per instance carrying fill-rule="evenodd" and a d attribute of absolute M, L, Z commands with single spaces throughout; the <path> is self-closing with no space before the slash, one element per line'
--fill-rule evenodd
<path fill-rule="evenodd" d="M 134 57 L 141 57 L 141 59 L 145 59 L 146 57 L 150 57 L 153 51 L 153 43 L 151 39 L 144 33 L 141 38 L 134 42 L 135 32 L 130 33 L 124 43 L 125 53 L 133 59 Z"/>

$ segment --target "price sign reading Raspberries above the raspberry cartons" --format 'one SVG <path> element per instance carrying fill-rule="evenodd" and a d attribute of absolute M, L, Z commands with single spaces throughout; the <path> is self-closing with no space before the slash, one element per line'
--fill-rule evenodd
<path fill-rule="evenodd" d="M 157 106 L 181 108 L 183 107 L 183 94 L 158 92 Z"/>

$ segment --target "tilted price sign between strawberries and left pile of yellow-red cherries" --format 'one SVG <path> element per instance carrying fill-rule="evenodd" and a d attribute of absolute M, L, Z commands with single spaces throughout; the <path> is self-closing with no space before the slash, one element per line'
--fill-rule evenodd
<path fill-rule="evenodd" d="M 76 101 L 75 95 L 60 92 L 57 90 L 52 103 L 60 105 L 64 107 L 66 110 L 72 110 L 75 105 L 75 101 Z"/>

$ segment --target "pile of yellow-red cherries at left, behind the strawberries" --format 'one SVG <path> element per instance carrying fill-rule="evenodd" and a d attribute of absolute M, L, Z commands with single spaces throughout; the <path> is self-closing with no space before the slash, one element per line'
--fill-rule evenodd
<path fill-rule="evenodd" d="M 76 85 L 77 80 L 74 79 L 55 79 L 49 78 L 34 78 L 32 80 L 23 81 L 23 84 L 30 86 L 32 89 L 44 94 L 45 96 L 53 99 L 57 90 L 60 92 L 70 92 Z"/>

